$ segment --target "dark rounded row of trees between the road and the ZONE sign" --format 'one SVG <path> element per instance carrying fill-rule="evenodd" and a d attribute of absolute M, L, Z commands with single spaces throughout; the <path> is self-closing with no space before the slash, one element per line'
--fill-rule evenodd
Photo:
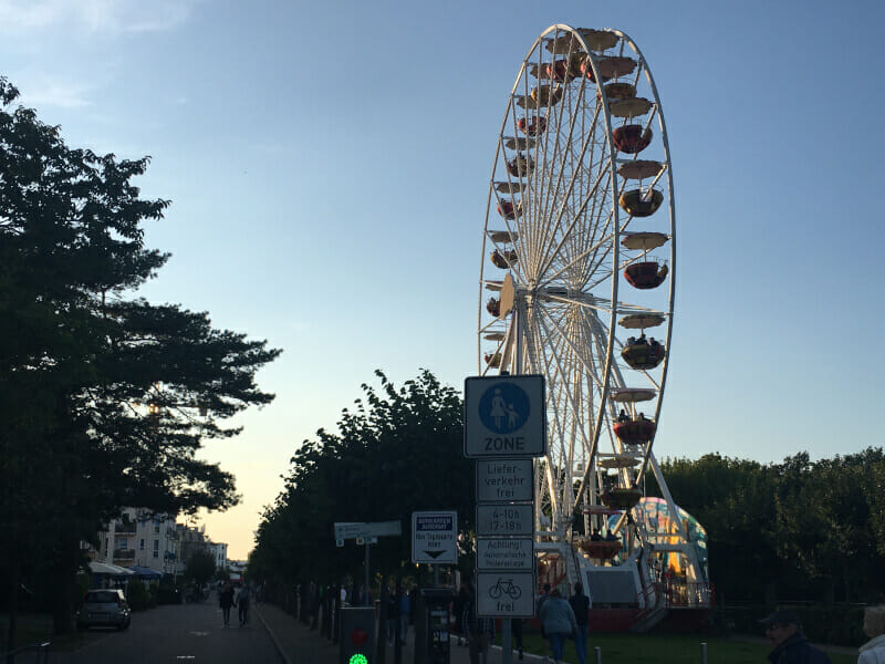
<path fill-rule="evenodd" d="M 376 375 L 381 387 L 363 385 L 364 398 L 342 413 L 336 433 L 320 429 L 295 452 L 285 488 L 259 525 L 251 579 L 292 588 L 362 578 L 362 547 L 336 547 L 335 521 L 403 523 L 402 537 L 372 547 L 382 575 L 408 566 L 413 511 L 454 509 L 461 531 L 471 530 L 473 467 L 461 455 L 459 393 L 428 371 L 400 387 Z"/>

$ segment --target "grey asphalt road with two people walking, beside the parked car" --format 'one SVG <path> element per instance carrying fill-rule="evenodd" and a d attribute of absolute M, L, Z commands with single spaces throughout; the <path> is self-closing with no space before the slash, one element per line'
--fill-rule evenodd
<path fill-rule="evenodd" d="M 50 657 L 52 664 L 282 664 L 261 621 L 252 615 L 240 627 L 236 609 L 230 618 L 231 626 L 225 627 L 215 595 L 202 604 L 157 606 L 133 613 L 125 632 L 91 631 L 81 650 Z"/>

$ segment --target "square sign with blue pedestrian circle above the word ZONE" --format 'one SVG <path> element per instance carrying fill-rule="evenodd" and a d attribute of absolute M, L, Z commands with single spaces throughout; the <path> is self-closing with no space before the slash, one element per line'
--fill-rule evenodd
<path fill-rule="evenodd" d="M 471 376 L 464 382 L 464 455 L 538 457 L 546 453 L 544 377 Z"/>

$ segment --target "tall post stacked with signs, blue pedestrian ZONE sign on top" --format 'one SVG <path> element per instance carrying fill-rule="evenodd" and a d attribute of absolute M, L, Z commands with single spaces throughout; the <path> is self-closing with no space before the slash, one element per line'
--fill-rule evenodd
<path fill-rule="evenodd" d="M 468 377 L 464 454 L 476 461 L 477 615 L 501 618 L 511 664 L 512 619 L 534 614 L 534 458 L 546 454 L 540 375 Z"/>

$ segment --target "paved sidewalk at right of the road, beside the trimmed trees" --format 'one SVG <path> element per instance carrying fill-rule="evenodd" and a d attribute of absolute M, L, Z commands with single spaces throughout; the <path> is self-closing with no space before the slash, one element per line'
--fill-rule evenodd
<path fill-rule="evenodd" d="M 320 634 L 320 630 L 311 631 L 294 618 L 274 606 L 261 604 L 254 608 L 254 613 L 270 634 L 280 656 L 285 664 L 337 664 L 339 646 Z M 452 641 L 451 664 L 470 664 L 470 653 L 465 645 Z M 386 664 L 394 664 L 394 646 L 387 645 Z M 527 664 L 538 664 L 542 657 L 525 653 L 522 661 Z M 415 631 L 409 630 L 407 643 L 403 646 L 403 664 L 415 662 Z M 500 646 L 491 646 L 487 664 L 501 662 Z M 513 653 L 513 664 L 522 664 Z"/>

